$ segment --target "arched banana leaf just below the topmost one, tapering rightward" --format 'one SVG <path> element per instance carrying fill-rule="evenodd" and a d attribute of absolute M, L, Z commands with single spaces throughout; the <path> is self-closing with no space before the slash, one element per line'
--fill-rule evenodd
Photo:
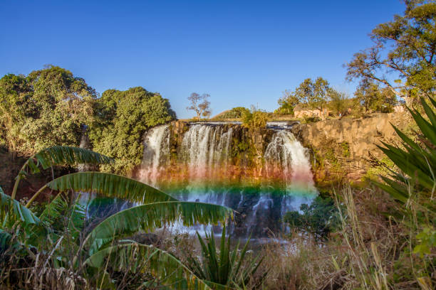
<path fill-rule="evenodd" d="M 167 193 L 163 193 L 147 184 L 124 176 L 103 172 L 78 172 L 54 179 L 47 183 L 48 188 L 65 191 L 97 193 L 110 198 L 122 198 L 135 203 L 155 203 L 159 201 L 175 201 Z"/>

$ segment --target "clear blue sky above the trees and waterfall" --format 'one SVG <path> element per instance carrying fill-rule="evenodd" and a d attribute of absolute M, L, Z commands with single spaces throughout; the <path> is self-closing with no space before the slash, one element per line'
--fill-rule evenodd
<path fill-rule="evenodd" d="M 0 75 L 59 65 L 100 93 L 160 92 L 180 118 L 193 115 L 191 92 L 211 95 L 212 114 L 272 111 L 306 77 L 352 93 L 343 63 L 403 9 L 400 0 L 1 0 Z"/>

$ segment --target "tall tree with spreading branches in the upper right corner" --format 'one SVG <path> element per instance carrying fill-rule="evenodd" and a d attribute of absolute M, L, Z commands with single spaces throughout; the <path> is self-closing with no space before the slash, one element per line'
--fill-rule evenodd
<path fill-rule="evenodd" d="M 373 80 L 399 97 L 430 97 L 436 90 L 436 3 L 408 0 L 405 4 L 404 15 L 373 29 L 374 45 L 355 53 L 346 64 L 347 79 Z M 399 80 L 390 81 L 397 76 Z"/>

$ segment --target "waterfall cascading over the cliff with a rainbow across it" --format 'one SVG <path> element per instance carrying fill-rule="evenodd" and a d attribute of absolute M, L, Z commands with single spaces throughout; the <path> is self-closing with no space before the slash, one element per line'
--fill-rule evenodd
<path fill-rule="evenodd" d="M 139 178 L 162 188 L 162 172 L 175 168 L 177 162 L 175 175 L 182 178 L 166 176 L 166 185 L 177 183 L 177 186 L 162 190 L 181 200 L 234 208 L 240 213 L 237 225 L 232 227 L 235 235 L 261 236 L 271 229 L 280 230 L 284 213 L 299 210 L 302 203 L 310 203 L 316 195 L 308 153 L 291 131 L 274 129 L 270 131 L 264 156 L 260 156 L 264 168 L 253 171 L 261 176 L 252 176 L 254 182 L 248 186 L 242 181 L 235 183 L 234 180 L 243 179 L 241 176 L 235 179 L 233 173 L 242 172 L 242 162 L 234 161 L 235 139 L 240 138 L 237 132 L 241 130 L 238 124 L 190 124 L 179 136 L 180 145 L 177 149 L 172 146 L 170 151 L 170 126 L 155 127 L 145 136 Z M 176 161 L 173 154 L 177 154 Z"/>

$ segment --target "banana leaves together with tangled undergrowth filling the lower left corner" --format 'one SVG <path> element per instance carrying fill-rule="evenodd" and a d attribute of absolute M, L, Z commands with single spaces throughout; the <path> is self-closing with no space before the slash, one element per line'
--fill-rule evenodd
<path fill-rule="evenodd" d="M 111 159 L 72 147 L 44 149 L 25 163 L 21 178 L 16 178 L 14 193 L 27 171 L 37 172 L 39 166 L 85 162 L 110 163 Z M 58 195 L 36 215 L 28 206 L 45 188 L 58 191 Z M 74 192 L 98 193 L 142 205 L 103 220 L 86 221 L 86 207 Z M 55 283 L 52 287 L 111 289 L 125 285 L 127 275 L 129 279 L 136 276 L 137 280 L 130 282 L 142 287 L 172 284 L 176 288 L 209 289 L 171 254 L 128 237 L 176 221 L 183 225 L 216 224 L 232 214 L 229 208 L 180 202 L 139 181 L 100 172 L 56 178 L 38 190 L 26 206 L 1 190 L 0 196 L 1 283 L 21 288 Z"/>

